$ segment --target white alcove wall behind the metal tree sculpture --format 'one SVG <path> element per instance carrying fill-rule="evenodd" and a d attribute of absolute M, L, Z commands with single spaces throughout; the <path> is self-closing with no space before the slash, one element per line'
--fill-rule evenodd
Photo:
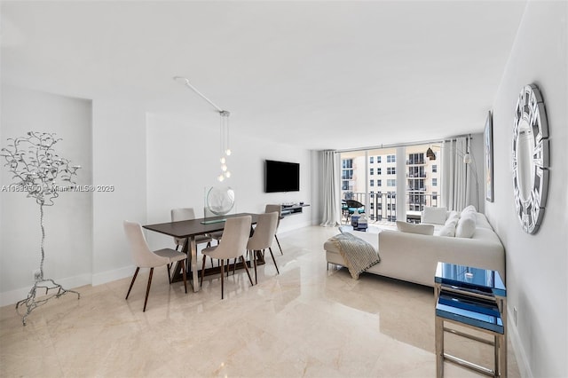
<path fill-rule="evenodd" d="M 73 164 L 76 183 L 92 183 L 91 101 L 2 85 L 1 146 L 7 138 L 26 136 L 30 130 L 55 132 L 63 140 L 55 151 Z M 4 167 L 0 186 L 12 184 Z M 65 185 L 59 182 L 59 185 Z M 28 295 L 32 272 L 41 261 L 42 232 L 39 205 L 24 193 L 0 193 L 0 304 L 14 303 Z M 60 193 L 54 206 L 44 206 L 44 277 L 64 287 L 91 283 L 92 193 Z"/>

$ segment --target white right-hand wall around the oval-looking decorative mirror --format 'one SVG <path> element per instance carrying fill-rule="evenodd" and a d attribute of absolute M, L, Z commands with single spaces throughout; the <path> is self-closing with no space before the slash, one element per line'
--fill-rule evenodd
<path fill-rule="evenodd" d="M 485 213 L 506 248 L 509 336 L 524 376 L 568 376 L 567 20 L 568 3 L 527 4 L 493 102 L 495 201 Z M 535 235 L 517 220 L 510 162 L 517 97 L 528 83 L 540 88 L 550 135 L 548 202 Z"/>

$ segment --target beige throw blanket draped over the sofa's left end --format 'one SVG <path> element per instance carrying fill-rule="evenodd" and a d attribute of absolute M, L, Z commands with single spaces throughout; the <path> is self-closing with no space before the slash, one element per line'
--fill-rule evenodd
<path fill-rule="evenodd" d="M 381 262 L 381 257 L 376 253 L 375 248 L 352 233 L 339 233 L 330 240 L 339 249 L 339 253 L 345 261 L 345 266 L 349 269 L 354 280 L 359 280 L 360 273 Z"/>

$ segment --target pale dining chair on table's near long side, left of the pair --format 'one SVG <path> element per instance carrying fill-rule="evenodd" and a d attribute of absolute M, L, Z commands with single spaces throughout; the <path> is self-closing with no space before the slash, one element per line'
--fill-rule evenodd
<path fill-rule="evenodd" d="M 225 229 L 223 230 L 223 242 L 215 247 L 205 248 L 201 251 L 203 254 L 203 265 L 201 267 L 201 281 L 203 284 L 203 276 L 205 275 L 205 261 L 206 257 L 216 258 L 221 263 L 221 299 L 224 299 L 224 276 L 225 276 L 225 262 L 228 263 L 232 258 L 240 258 L 245 270 L 247 271 L 248 280 L 250 285 L 253 285 L 252 278 L 248 272 L 247 262 L 245 261 L 244 254 L 247 248 L 248 235 L 250 234 L 250 224 L 252 217 L 231 217 L 225 221 Z"/>

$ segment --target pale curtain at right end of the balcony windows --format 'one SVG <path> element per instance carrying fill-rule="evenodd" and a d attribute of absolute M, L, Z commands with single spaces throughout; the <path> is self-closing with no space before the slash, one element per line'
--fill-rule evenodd
<path fill-rule="evenodd" d="M 449 210 L 461 211 L 469 199 L 467 166 L 463 154 L 467 151 L 467 139 L 445 141 L 442 146 L 442 201 Z"/>

